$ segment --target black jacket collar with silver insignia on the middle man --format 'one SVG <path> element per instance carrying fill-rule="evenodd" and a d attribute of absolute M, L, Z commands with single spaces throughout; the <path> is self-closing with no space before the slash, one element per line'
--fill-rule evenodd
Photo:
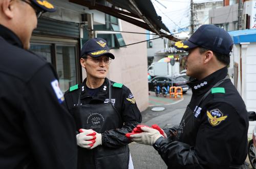
<path fill-rule="evenodd" d="M 91 97 L 90 94 L 86 90 L 86 80 L 87 80 L 87 78 L 85 78 L 81 84 L 81 99 L 85 98 L 85 97 Z M 99 90 L 97 96 L 95 96 L 93 98 L 93 100 L 105 101 L 106 94 L 108 94 L 108 92 L 109 92 L 109 80 L 108 80 L 108 78 L 105 78 L 103 84 L 100 86 L 100 90 Z"/>

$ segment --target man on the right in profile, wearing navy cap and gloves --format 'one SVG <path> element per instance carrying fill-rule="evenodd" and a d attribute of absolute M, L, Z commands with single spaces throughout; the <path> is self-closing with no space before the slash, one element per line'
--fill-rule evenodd
<path fill-rule="evenodd" d="M 247 155 L 246 106 L 227 76 L 232 39 L 215 25 L 202 25 L 175 47 L 187 50 L 187 75 L 193 95 L 179 126 L 141 127 L 131 135 L 137 143 L 153 145 L 168 168 L 242 168 Z"/>

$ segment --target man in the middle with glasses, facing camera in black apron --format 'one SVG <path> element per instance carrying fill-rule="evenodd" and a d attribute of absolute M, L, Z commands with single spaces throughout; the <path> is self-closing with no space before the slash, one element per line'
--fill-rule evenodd
<path fill-rule="evenodd" d="M 125 133 L 141 114 L 131 91 L 106 78 L 112 59 L 104 39 L 87 41 L 80 57 L 87 78 L 65 93 L 76 122 L 78 168 L 133 168 Z"/>

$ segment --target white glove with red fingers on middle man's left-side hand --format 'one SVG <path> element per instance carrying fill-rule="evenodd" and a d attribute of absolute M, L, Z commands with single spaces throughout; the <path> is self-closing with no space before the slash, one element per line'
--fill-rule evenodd
<path fill-rule="evenodd" d="M 95 143 L 96 132 L 92 129 L 79 129 L 79 131 L 80 133 L 76 135 L 77 145 L 86 149 L 93 147 L 93 144 Z"/>

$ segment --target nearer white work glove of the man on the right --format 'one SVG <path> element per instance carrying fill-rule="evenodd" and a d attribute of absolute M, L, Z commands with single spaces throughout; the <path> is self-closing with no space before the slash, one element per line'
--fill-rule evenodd
<path fill-rule="evenodd" d="M 141 130 L 144 132 L 130 135 L 133 142 L 152 146 L 158 138 L 163 137 L 158 130 L 153 128 L 141 127 Z"/>

